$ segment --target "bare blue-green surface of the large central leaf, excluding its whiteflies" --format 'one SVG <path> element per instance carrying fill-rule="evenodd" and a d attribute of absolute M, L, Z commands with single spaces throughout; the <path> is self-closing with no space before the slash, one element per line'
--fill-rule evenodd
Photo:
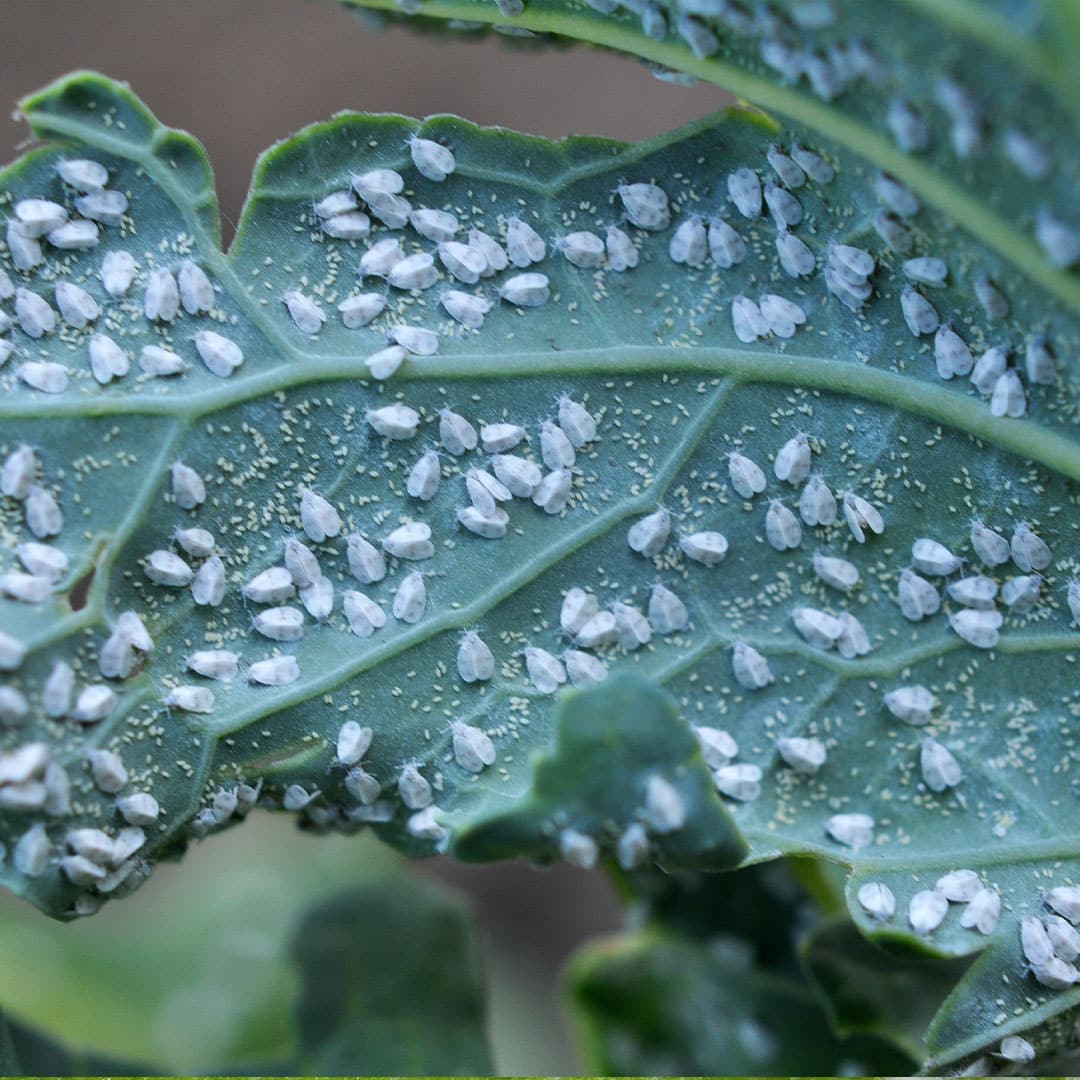
<path fill-rule="evenodd" d="M 879 210 L 869 175 L 873 156 L 860 158 L 827 135 L 780 129 L 744 110 L 636 147 L 600 139 L 552 144 L 446 117 L 418 124 L 342 114 L 264 157 L 226 255 L 218 247 L 201 148 L 160 126 L 126 90 L 100 77 L 75 76 L 23 108 L 48 145 L 3 174 L 0 186 L 9 201 L 49 195 L 70 203 L 56 163 L 91 156 L 109 167 L 111 186 L 129 193 L 130 220 L 104 230 L 93 252 L 59 255 L 46 245 L 45 261 L 33 272 L 16 273 L 10 254 L 2 256 L 3 267 L 50 301 L 57 279 L 80 282 L 104 305 L 98 328 L 133 360 L 144 346 L 157 343 L 174 347 L 192 366 L 170 381 L 144 378 L 133 364 L 130 375 L 100 387 L 87 369 L 87 330 L 65 326 L 40 340 L 17 329 L 11 334 L 17 355 L 0 373 L 0 453 L 22 443 L 37 447 L 41 481 L 67 518 L 56 543 L 70 567 L 44 604 L 0 600 L 0 626 L 27 650 L 8 681 L 28 704 L 28 716 L 4 730 L 0 746 L 43 742 L 73 791 L 72 813 L 50 816 L 12 805 L 40 796 L 33 782 L 18 791 L 6 785 L 0 840 L 12 851 L 41 822 L 50 861 L 45 873 L 29 878 L 9 858 L 0 867 L 5 885 L 62 917 L 102 902 L 99 890 L 77 886 L 58 869 L 69 828 L 103 826 L 114 835 L 122 824 L 112 795 L 87 773 L 90 748 L 118 752 L 130 773 L 122 794 L 150 793 L 162 808 L 158 822 L 146 827 L 144 848 L 121 872 L 131 867 L 131 876 L 108 895 L 130 891 L 159 860 L 178 855 L 192 836 L 226 819 L 239 820 L 242 814 L 227 811 L 240 783 L 247 787 L 239 794 L 270 808 L 298 806 L 318 789 L 318 798 L 299 811 L 307 826 L 350 831 L 370 824 L 413 854 L 453 850 L 460 842 L 470 858 L 510 855 L 505 840 L 512 823 L 517 842 L 549 855 L 552 837 L 566 828 L 592 828 L 597 811 L 580 792 L 571 798 L 566 785 L 556 783 L 559 766 L 552 762 L 561 762 L 567 747 L 572 753 L 577 732 L 572 740 L 556 738 L 559 698 L 542 692 L 542 678 L 538 685 L 528 676 L 522 653 L 529 646 L 553 653 L 566 648 L 559 617 L 571 588 L 593 592 L 605 607 L 629 602 L 645 609 L 652 586 L 662 584 L 685 603 L 685 629 L 660 633 L 657 611 L 647 648 L 608 646 L 599 656 L 612 674 L 664 685 L 686 720 L 734 737 L 737 765 L 761 769 L 759 797 L 729 808 L 750 858 L 813 854 L 854 866 L 860 876 L 849 887 L 852 902 L 858 882 L 890 882 L 900 901 L 895 920 L 879 928 L 858 910 L 856 916 L 864 932 L 899 935 L 909 944 L 915 942 L 905 924 L 910 897 L 947 870 L 982 872 L 1004 901 L 991 947 L 1011 973 L 998 994 L 1001 1011 L 1013 1017 L 1009 1023 L 1024 1027 L 1029 1013 L 1039 1022 L 1047 1011 L 1075 1007 L 1077 991 L 1042 990 L 1027 973 L 1016 923 L 1017 915 L 1041 909 L 1043 889 L 1075 876 L 1068 862 L 1076 849 L 1072 815 L 1062 809 L 1076 795 L 1068 762 L 1080 656 L 1066 592 L 1080 567 L 1071 279 L 1045 262 L 1024 275 L 1029 260 L 1023 245 L 1003 242 L 994 229 L 983 241 L 973 239 L 933 208 L 955 210 L 954 204 L 922 192 L 930 206 L 913 219 L 912 254 L 941 256 L 948 264 L 948 285 L 932 291 L 941 316 L 976 353 L 1005 338 L 1022 355 L 1036 330 L 1047 333 L 1057 352 L 1054 383 L 1027 388 L 1027 416 L 996 417 L 967 379 L 939 379 L 929 338 L 917 341 L 904 325 L 901 259 L 872 225 Z M 409 161 L 405 143 L 418 132 L 443 140 L 457 156 L 457 171 L 442 185 L 419 177 Z M 816 260 L 806 280 L 793 283 L 778 266 L 778 233 L 767 217 L 748 222 L 731 217 L 748 255 L 728 271 L 712 262 L 698 269 L 675 265 L 670 230 L 625 225 L 617 193 L 621 180 L 662 185 L 673 226 L 694 214 L 730 214 L 727 173 L 746 165 L 766 175 L 770 144 L 787 146 L 793 138 L 836 170 L 832 183 L 798 190 L 805 220 L 794 232 Z M 549 242 L 580 229 L 603 234 L 607 225 L 622 221 L 640 265 L 626 273 L 603 266 L 585 270 L 550 251 L 539 269 L 550 276 L 551 301 L 514 308 L 496 300 L 496 287 L 511 271 L 485 279 L 480 292 L 496 302 L 478 333 L 443 318 L 435 291 L 396 289 L 370 326 L 347 329 L 334 309 L 359 287 L 355 264 L 367 245 L 327 238 L 318 228 L 312 201 L 376 166 L 400 167 L 414 203 L 453 210 L 500 239 L 513 215 Z M 403 237 L 409 251 L 433 248 L 411 230 L 393 234 Z M 373 239 L 384 235 L 377 224 Z M 875 292 L 858 314 L 828 295 L 820 272 L 837 242 L 864 246 L 876 260 Z M 114 302 L 97 275 L 103 254 L 119 249 L 134 254 L 140 276 L 131 297 Z M 215 283 L 212 312 L 183 313 L 160 325 L 148 321 L 143 308 L 148 269 L 176 270 L 189 256 Z M 1008 318 L 989 320 L 975 299 L 974 282 L 983 274 L 1004 292 Z M 370 289 L 370 281 L 364 287 Z M 306 335 L 291 321 L 281 302 L 289 289 L 326 310 L 329 319 L 320 333 Z M 807 324 L 789 339 L 741 342 L 732 332 L 732 297 L 762 292 L 797 301 Z M 11 310 L 6 301 L 4 310 Z M 438 329 L 440 353 L 409 356 L 389 382 L 377 383 L 363 361 L 400 322 Z M 193 335 L 207 326 L 243 350 L 243 366 L 228 379 L 211 374 L 193 349 Z M 44 394 L 24 386 L 14 373 L 31 357 L 68 368 L 67 389 Z M 487 462 L 478 451 L 460 460 L 443 455 L 442 486 L 430 502 L 406 494 L 408 470 L 424 450 L 438 446 L 441 409 L 453 407 L 475 423 L 519 422 L 532 440 L 524 453 L 539 458 L 541 424 L 556 418 L 563 395 L 583 403 L 597 422 L 596 438 L 577 456 L 564 513 L 546 515 L 521 500 L 511 508 L 501 540 L 459 529 L 457 509 L 467 501 L 462 473 Z M 399 400 L 420 414 L 420 434 L 388 442 L 365 416 Z M 764 497 L 744 500 L 729 484 L 726 457 L 738 449 L 771 472 L 781 446 L 799 431 L 809 436 L 814 471 L 835 491 L 858 492 L 881 511 L 883 536 L 858 543 L 841 517 L 827 528 L 806 528 L 801 546 L 792 551 L 779 553 L 766 542 L 769 499 L 794 508 L 798 492 L 770 477 Z M 197 510 L 180 509 L 172 495 L 170 467 L 177 460 L 205 482 L 207 498 Z M 245 600 L 241 586 L 280 566 L 286 539 L 302 535 L 299 508 L 307 487 L 332 500 L 345 519 L 340 537 L 312 543 L 338 606 L 326 624 L 308 619 L 302 640 L 278 646 L 253 630 L 259 605 Z M 627 529 L 660 507 L 671 515 L 673 536 L 645 558 L 630 549 Z M 11 567 L 13 549 L 29 535 L 19 502 L 5 499 L 0 512 L 5 567 Z M 953 599 L 917 623 L 902 617 L 895 599 L 920 537 L 932 537 L 978 566 L 968 539 L 973 516 L 1007 538 L 1028 522 L 1052 551 L 1037 605 L 1028 613 L 1008 611 L 991 650 L 972 647 L 949 629 L 946 615 L 958 610 Z M 434 558 L 417 564 L 427 575 L 427 612 L 417 623 L 389 617 L 373 636 L 356 637 L 342 617 L 341 593 L 364 586 L 350 576 L 345 534 L 356 529 L 378 543 L 406 521 L 433 529 Z M 218 608 L 199 607 L 186 589 L 162 586 L 145 573 L 146 556 L 168 549 L 176 528 L 193 525 L 214 532 L 225 561 L 228 589 Z M 719 566 L 691 561 L 678 548 L 676 538 L 698 530 L 726 536 L 730 550 Z M 852 561 L 861 575 L 852 595 L 818 578 L 815 549 Z M 388 578 L 370 588 L 388 613 L 399 583 L 415 568 L 391 559 Z M 991 572 L 1003 582 L 1020 570 Z M 847 659 L 815 648 L 793 629 L 793 611 L 800 606 L 856 616 L 872 651 Z M 156 647 L 136 657 L 131 677 L 113 683 L 118 703 L 109 717 L 89 725 L 44 717 L 42 691 L 53 664 L 70 663 L 80 691 L 103 681 L 103 646 L 127 610 L 144 619 Z M 488 681 L 465 684 L 458 677 L 459 635 L 470 630 L 481 633 L 495 656 Z M 739 642 L 758 649 L 770 664 L 772 681 L 760 690 L 747 690 L 733 677 L 731 648 Z M 185 672 L 185 658 L 206 648 L 234 649 L 245 665 L 280 651 L 297 659 L 300 677 L 279 688 L 251 685 L 243 676 L 215 683 L 208 714 L 166 708 L 171 688 L 199 681 Z M 9 647 L 9 659 L 10 652 Z M 937 699 L 924 730 L 896 721 L 882 704 L 886 692 L 916 683 Z M 585 707 L 581 700 L 567 697 L 565 715 L 584 715 L 577 712 Z M 688 786 L 676 802 L 693 811 L 690 834 L 700 828 L 710 838 L 679 852 L 677 831 L 653 827 L 648 854 L 671 867 L 684 858 L 700 865 L 702 851 L 715 845 L 725 852 L 718 862 L 733 858 L 738 838 L 723 824 L 715 800 L 701 792 L 701 766 L 689 752 L 686 728 L 670 706 L 649 704 L 653 699 L 644 691 L 642 701 L 648 723 L 672 735 L 671 745 L 658 751 L 658 762 L 686 769 L 679 775 Z M 644 738 L 636 707 L 627 704 L 618 724 L 596 719 L 597 738 L 605 730 Z M 338 730 L 347 719 L 374 731 L 364 758 L 365 770 L 382 787 L 374 806 L 361 806 L 350 794 L 346 770 L 335 760 Z M 458 760 L 454 721 L 491 738 L 492 765 L 475 773 Z M 920 778 L 919 747 L 927 733 L 947 744 L 962 765 L 963 782 L 953 793 L 933 794 Z M 582 745 L 586 735 L 588 725 Z M 816 775 L 797 773 L 781 759 L 779 739 L 794 735 L 825 744 L 827 762 Z M 482 740 L 477 745 L 483 750 Z M 592 783 L 609 774 L 610 754 L 589 754 L 591 760 L 573 762 L 573 770 Z M 626 761 L 632 774 L 620 775 L 617 786 L 623 794 L 600 811 L 610 818 L 594 837 L 603 854 L 620 828 L 657 820 L 643 801 L 653 778 L 645 777 L 639 753 L 627 754 Z M 396 782 L 408 762 L 431 783 L 436 810 L 420 810 L 415 796 L 411 807 L 400 799 Z M 656 775 L 671 783 L 662 771 Z M 677 796 L 680 783 L 674 784 Z M 755 781 L 744 777 L 742 783 L 743 795 L 755 794 Z M 289 792 L 293 785 L 303 792 Z M 669 816 L 677 818 L 670 792 L 661 791 Z M 566 802 L 556 810 L 562 799 Z M 707 822 L 699 820 L 700 810 Z M 826 831 L 837 813 L 870 815 L 874 842 L 858 850 L 838 843 Z M 480 842 L 485 837 L 492 841 L 487 848 Z M 78 864 L 75 868 L 78 878 Z M 107 886 L 113 883 L 110 876 Z M 982 949 L 986 939 L 960 929 L 958 919 L 954 912 L 923 947 L 948 956 Z M 996 1045 L 1001 1030 L 985 1010 L 951 1015 L 962 1032 L 958 1028 L 949 1037 L 950 1045 L 962 1043 L 964 1053 Z"/>

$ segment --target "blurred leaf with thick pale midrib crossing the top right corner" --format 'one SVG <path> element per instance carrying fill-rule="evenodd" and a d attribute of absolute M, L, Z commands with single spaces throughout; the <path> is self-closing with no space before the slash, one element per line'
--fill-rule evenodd
<path fill-rule="evenodd" d="M 490 27 L 613 49 L 654 65 L 661 78 L 677 80 L 680 72 L 717 83 L 888 170 L 1056 300 L 1080 310 L 1076 278 L 1048 262 L 1034 231 L 1041 207 L 1075 220 L 1069 177 L 1077 166 L 1080 50 L 1070 0 L 781 0 L 753 13 L 755 5 L 739 0 L 346 2 L 469 33 Z M 403 9 L 411 14 L 402 16 Z M 811 15 L 819 25 L 806 22 Z M 694 30 L 684 32 L 684 17 L 712 41 L 693 48 Z M 954 100 L 941 87 L 946 79 L 967 93 L 970 108 L 960 99 L 943 105 Z M 907 152 L 893 136 L 888 118 L 896 99 L 913 105 L 928 125 L 924 149 Z M 1051 167 L 1037 183 L 1008 157 L 1009 129 L 1049 156 Z M 957 145 L 971 149 L 961 153 Z"/>

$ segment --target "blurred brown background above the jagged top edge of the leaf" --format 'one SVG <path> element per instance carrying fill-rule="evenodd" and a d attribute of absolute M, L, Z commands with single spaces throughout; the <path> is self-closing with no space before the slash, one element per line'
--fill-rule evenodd
<path fill-rule="evenodd" d="M 639 139 L 726 99 L 715 86 L 662 83 L 639 62 L 597 50 L 374 31 L 333 0 L 2 0 L 0 26 L 0 116 L 76 68 L 123 79 L 206 146 L 227 221 L 260 150 L 341 109 L 456 112 L 555 138 Z M 0 122 L 0 160 L 25 134 Z"/>

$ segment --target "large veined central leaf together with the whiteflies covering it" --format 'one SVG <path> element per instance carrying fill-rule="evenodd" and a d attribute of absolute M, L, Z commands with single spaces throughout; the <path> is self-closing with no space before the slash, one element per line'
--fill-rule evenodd
<path fill-rule="evenodd" d="M 85 158 L 129 205 L 99 231 L 59 226 L 40 262 L 19 241 L 37 243 L 27 230 L 58 212 L 26 206 L 18 252 L 2 259 L 12 292 L 25 291 L 0 301 L 16 324 L 0 373 L 0 453 L 16 455 L 0 508 L 3 589 L 22 597 L 0 600 L 6 885 L 54 915 L 91 912 L 255 800 L 313 827 L 374 824 L 414 853 L 483 837 L 531 805 L 530 852 L 540 829 L 545 853 L 557 843 L 580 860 L 598 843 L 627 864 L 675 864 L 671 837 L 692 834 L 699 805 L 680 793 L 684 777 L 698 784 L 696 752 L 652 775 L 635 759 L 600 825 L 577 800 L 556 809 L 531 791 L 534 755 L 557 760 L 550 706 L 572 646 L 579 684 L 634 672 L 713 729 L 704 757 L 754 860 L 822 854 L 887 877 L 899 900 L 887 932 L 907 940 L 908 902 L 928 881 L 982 870 L 1007 912 L 994 939 L 1013 974 L 1002 1011 L 1023 1026 L 1032 1000 L 1071 1008 L 1077 991 L 1026 973 L 1012 914 L 1041 910 L 1076 845 L 1058 809 L 1075 797 L 1069 771 L 1035 767 L 1069 759 L 1080 650 L 1066 589 L 1080 519 L 1077 327 L 1052 298 L 1057 271 L 1024 276 L 993 232 L 983 246 L 930 208 L 905 224 L 895 207 L 913 211 L 910 193 L 865 160 L 738 110 L 632 148 L 342 114 L 262 159 L 226 256 L 201 149 L 129 92 L 71 77 L 24 110 L 59 141 L 0 178 L 13 213 L 42 198 L 102 216 L 111 197 L 87 202 L 69 183 L 87 186 L 85 174 L 58 173 Z M 408 145 L 417 134 L 453 150 L 453 173 L 444 153 Z M 400 171 L 404 191 L 375 168 Z M 748 216 L 729 198 L 740 170 Z M 365 210 L 352 208 L 357 188 Z M 447 246 L 470 227 L 500 246 Z M 541 243 L 527 271 L 496 269 L 502 244 L 525 262 Z M 378 269 L 388 248 L 389 284 L 357 282 L 360 259 Z M 135 278 L 114 297 L 103 259 L 120 252 Z M 912 257 L 941 258 L 944 284 Z M 174 274 L 186 306 L 173 303 Z M 474 299 L 447 295 L 474 278 Z M 78 285 L 98 313 L 57 284 Z M 63 318 L 49 332 L 54 305 Z M 946 321 L 974 356 L 989 353 L 977 387 L 962 370 L 939 375 L 946 361 L 964 366 L 944 335 L 935 363 Z M 94 333 L 127 374 L 95 377 Z M 1039 348 L 1025 359 L 1038 333 L 1056 366 Z M 410 353 L 380 381 L 365 359 L 388 335 Z M 123 366 L 116 351 L 95 356 L 97 376 Z M 381 356 L 379 375 L 400 359 Z M 1002 404 L 1026 416 L 995 415 Z M 482 446 L 468 449 L 474 429 Z M 500 484 L 518 495 L 509 513 Z M 994 545 L 978 534 L 973 546 L 972 517 L 1000 531 L 1013 565 L 982 567 Z M 373 548 L 349 544 L 353 531 Z M 31 540 L 50 548 L 19 548 Z M 922 540 L 948 550 L 913 550 Z M 921 584 L 905 573 L 913 561 Z M 958 584 L 984 569 L 989 584 Z M 977 607 L 986 589 L 1005 597 L 997 612 Z M 924 617 L 913 621 L 913 607 Z M 231 679 L 186 670 L 231 674 L 222 651 L 242 667 Z M 915 685 L 933 699 L 929 716 L 900 712 L 929 726 L 885 703 Z M 566 715 L 578 707 L 567 701 Z M 652 715 L 686 744 L 670 707 Z M 369 747 L 355 728 L 339 744 L 347 720 L 372 729 Z M 104 750 L 122 771 L 89 758 Z M 610 762 L 586 753 L 595 766 L 575 769 L 603 775 Z M 548 775 L 537 770 L 538 795 L 555 789 Z M 632 826 L 620 851 L 612 840 Z M 729 838 L 728 854 L 737 847 Z M 959 923 L 957 909 L 920 940 L 954 955 L 986 944 Z M 964 1023 L 968 1049 L 998 1038 L 982 1014 Z"/>

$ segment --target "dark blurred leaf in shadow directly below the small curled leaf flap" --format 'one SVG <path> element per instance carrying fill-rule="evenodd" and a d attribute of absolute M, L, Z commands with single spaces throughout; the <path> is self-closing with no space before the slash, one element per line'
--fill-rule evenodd
<path fill-rule="evenodd" d="M 791 867 L 638 874 L 640 929 L 569 974 L 586 1065 L 613 1075 L 904 1074 L 915 1056 L 834 1034 L 795 945 L 814 914 Z"/>

